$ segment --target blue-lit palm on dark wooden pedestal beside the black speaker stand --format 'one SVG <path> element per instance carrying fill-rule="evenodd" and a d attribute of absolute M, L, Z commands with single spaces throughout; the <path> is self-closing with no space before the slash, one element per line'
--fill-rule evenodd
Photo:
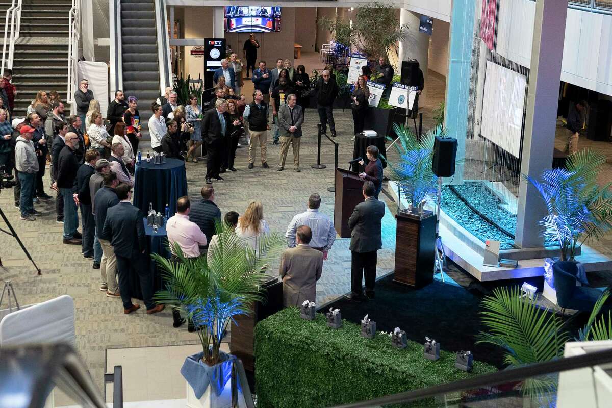
<path fill-rule="evenodd" d="M 436 215 L 423 207 L 435 197 L 438 177 L 431 171 L 433 144 L 445 131 L 437 127 L 419 139 L 409 127 L 394 124 L 394 129 L 398 158 L 387 160 L 391 178 L 398 184 L 394 281 L 420 287 L 433 281 Z M 402 198 L 408 201 L 408 208 L 400 211 Z"/>

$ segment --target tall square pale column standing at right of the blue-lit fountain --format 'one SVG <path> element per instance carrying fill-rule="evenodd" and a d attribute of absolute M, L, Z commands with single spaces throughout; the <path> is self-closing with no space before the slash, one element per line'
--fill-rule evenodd
<path fill-rule="evenodd" d="M 521 172 L 531 177 L 540 177 L 542 171 L 550 169 L 553 164 L 566 17 L 567 1 L 535 2 L 534 37 L 521 157 Z M 518 247 L 542 246 L 538 221 L 546 212 L 535 187 L 521 177 L 518 187 L 517 232 L 514 239 Z"/>

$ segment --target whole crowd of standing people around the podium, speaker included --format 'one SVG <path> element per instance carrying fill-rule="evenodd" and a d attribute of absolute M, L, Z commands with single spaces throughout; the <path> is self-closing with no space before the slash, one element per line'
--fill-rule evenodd
<path fill-rule="evenodd" d="M 249 169 L 254 167 L 257 147 L 261 165 L 269 168 L 267 140 L 268 132 L 272 131 L 272 144 L 280 144 L 277 170 L 285 168 L 291 146 L 293 169 L 299 172 L 304 108 L 311 94 L 316 96 L 324 132 L 329 125 L 332 136 L 337 135 L 332 107 L 338 86 L 330 67 L 311 84 L 304 65 L 293 69 L 287 59 L 278 59 L 276 65 L 269 70 L 265 61 L 259 61 L 259 67 L 253 67 L 250 79 L 255 91 L 251 103 L 240 93 L 244 86 L 242 64 L 236 54 L 231 54 L 215 72 L 211 109 L 203 109 L 195 95 L 189 95 L 186 106 L 179 105 L 177 94 L 171 88 L 151 106 L 148 130 L 154 152 L 196 162 L 198 147 L 206 151 L 206 184 L 201 188 L 201 199 L 180 198 L 176 203 L 177 213 L 166 224 L 170 244 L 176 243 L 188 258 L 210 257 L 218 245 L 215 222 L 222 215 L 215 204 L 212 180 L 223 180 L 224 172 L 237 171 L 234 160 L 241 137 L 247 136 Z M 163 310 L 163 305 L 156 305 L 152 299 L 154 284 L 151 270 L 146 267 L 150 256 L 143 213 L 131 204 L 136 154 L 142 137 L 138 99 L 116 91 L 103 115 L 88 80 L 82 79 L 73 95 L 76 115 L 66 116 L 58 92 L 40 91 L 28 106 L 27 116 L 11 121 L 17 91 L 10 83 L 12 72 L 5 70 L 3 74 L 0 165 L 5 165 L 9 172 L 14 169 L 17 185 L 13 193 L 20 219 L 35 221 L 42 213 L 34 205 L 40 200 L 53 199 L 43 182 L 49 163 L 51 185 L 47 188 L 55 192 L 56 221 L 63 224 L 62 242 L 80 245 L 83 257 L 92 259 L 92 267 L 100 270 L 100 291 L 107 297 L 121 298 L 124 313 L 132 313 L 140 306 L 132 303 L 127 276 L 135 272 L 147 313 Z M 353 96 L 355 109 L 367 106 L 363 78 L 357 81 Z M 378 202 L 382 182 L 382 165 L 376 147 L 368 148 L 368 160 L 365 172 L 360 174 L 365 180 L 364 204 L 369 200 Z M 288 249 L 283 252 L 279 272 L 285 281 L 285 305 L 315 299 L 316 280 L 321 276 L 323 261 L 336 236 L 330 217 L 319 212 L 320 204 L 320 196 L 311 195 L 307 210 L 297 214 L 286 229 Z M 356 207 L 350 221 L 356 231 L 352 239 L 355 244 L 351 243 L 354 282 L 350 298 L 353 300 L 373 297 L 371 274 L 375 273 L 380 218 L 384 213 L 371 204 L 362 207 Z M 251 202 L 242 215 L 227 212 L 223 221 L 232 226 L 244 245 L 255 250 L 258 237 L 270 232 L 259 201 Z M 363 224 L 373 230 L 360 231 Z M 366 292 L 362 292 L 361 278 L 359 286 L 356 278 L 364 273 Z M 174 325 L 181 325 L 180 316 L 174 317 Z"/>

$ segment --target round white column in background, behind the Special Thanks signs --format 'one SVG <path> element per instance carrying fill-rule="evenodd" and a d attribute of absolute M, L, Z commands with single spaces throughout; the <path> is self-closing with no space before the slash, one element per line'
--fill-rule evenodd
<path fill-rule="evenodd" d="M 401 75 L 401 61 L 406 59 L 416 59 L 419 61 L 419 68 L 423 71 L 425 78 L 425 89 L 419 96 L 419 106 L 425 105 L 427 100 L 427 61 L 429 57 L 430 36 L 419 31 L 420 15 L 400 9 L 400 24 L 408 24 L 406 37 L 400 41 L 397 61 L 397 75 Z M 434 29 L 436 29 L 434 27 Z"/>

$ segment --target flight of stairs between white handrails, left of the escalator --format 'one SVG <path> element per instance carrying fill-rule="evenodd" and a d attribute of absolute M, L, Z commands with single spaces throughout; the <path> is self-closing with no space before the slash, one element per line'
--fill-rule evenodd
<path fill-rule="evenodd" d="M 68 87 L 68 23 L 71 0 L 23 0 L 19 38 L 13 54 L 17 87 L 14 116 L 26 116 L 39 91 L 58 91 L 65 102 Z M 6 10 L 10 2 L 0 4 Z M 6 13 L 5 13 L 6 15 Z"/>

